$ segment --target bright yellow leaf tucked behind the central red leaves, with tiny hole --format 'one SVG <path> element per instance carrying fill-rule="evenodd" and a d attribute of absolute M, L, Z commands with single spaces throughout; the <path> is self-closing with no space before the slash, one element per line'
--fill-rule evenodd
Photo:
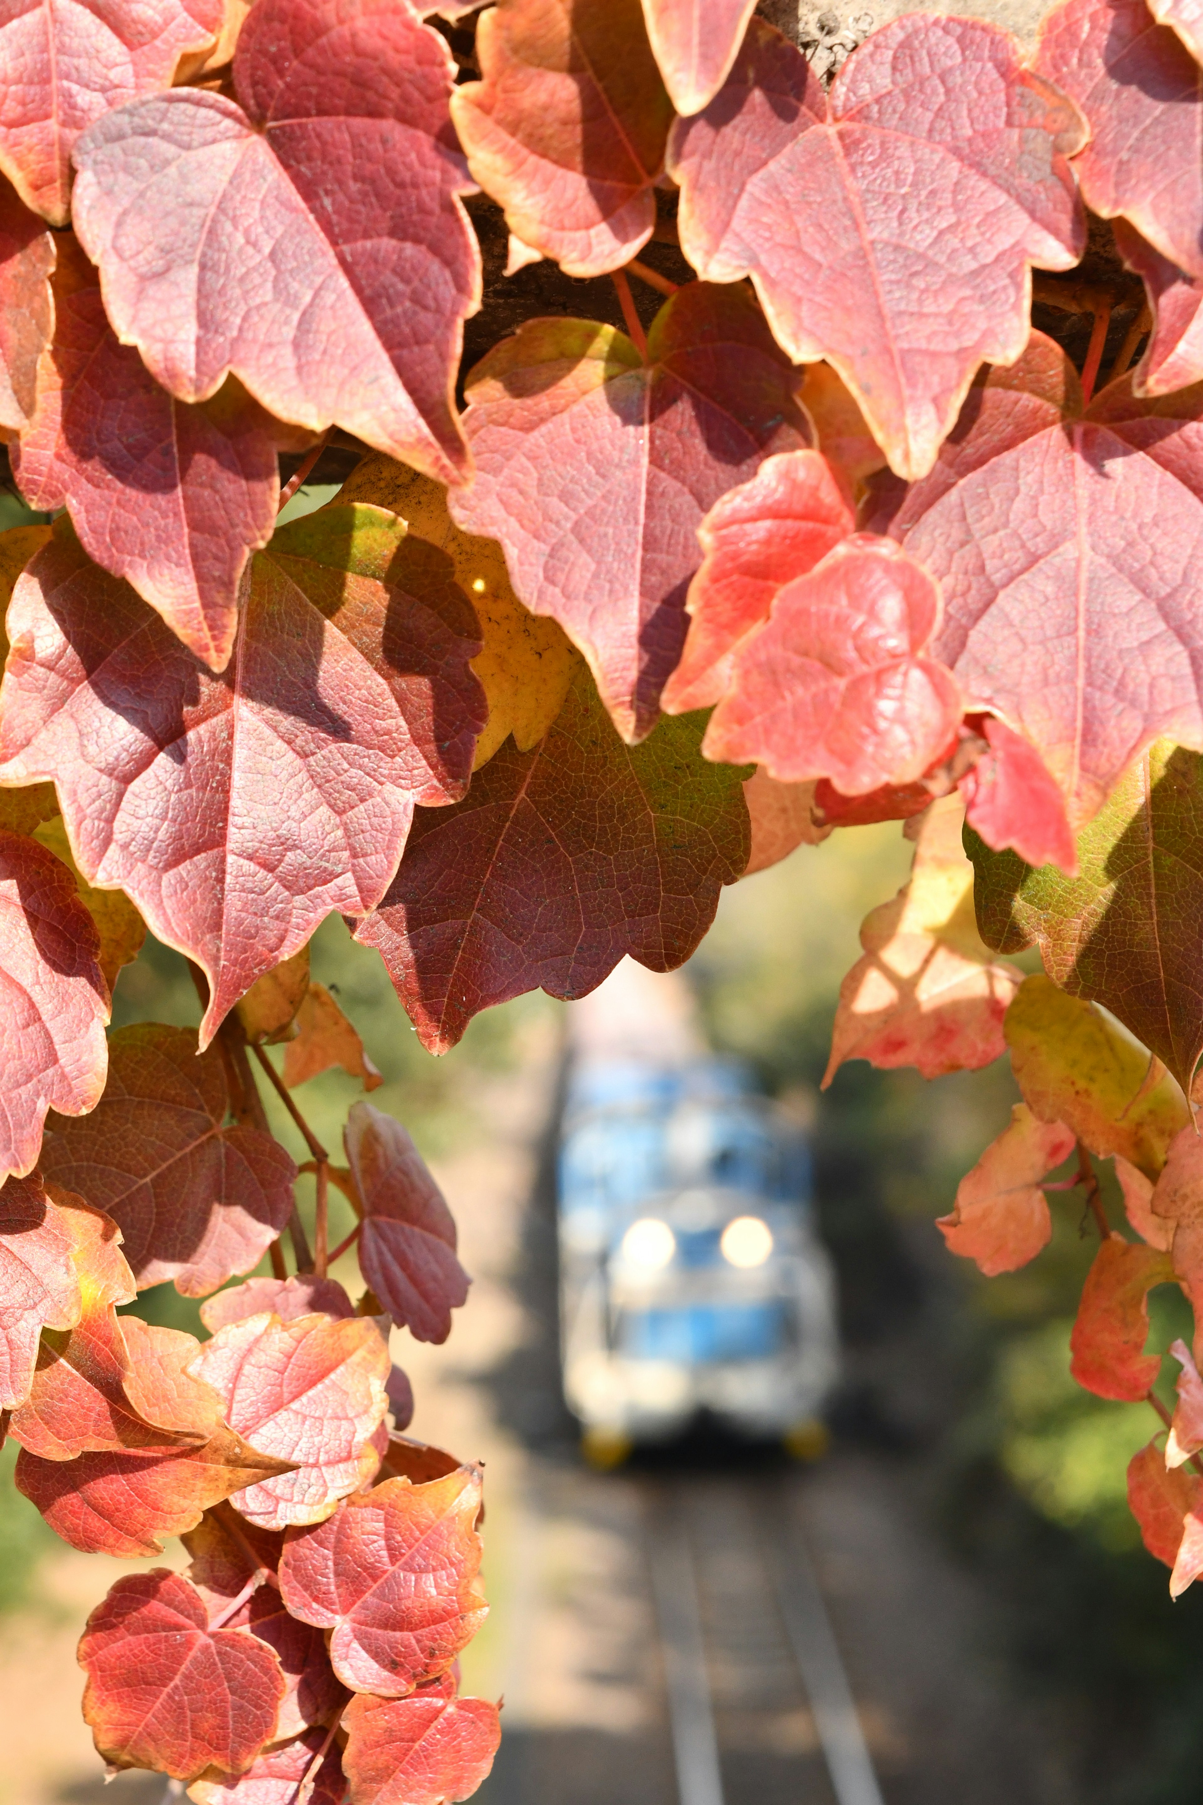
<path fill-rule="evenodd" d="M 411 536 L 451 558 L 455 581 L 473 603 L 483 639 L 473 670 L 489 702 L 489 720 L 473 769 L 480 771 L 510 733 L 519 753 L 537 745 L 565 706 L 579 655 L 556 621 L 523 608 L 498 542 L 456 527 L 440 482 L 375 453 L 352 471 L 337 500 L 390 507 Z"/>

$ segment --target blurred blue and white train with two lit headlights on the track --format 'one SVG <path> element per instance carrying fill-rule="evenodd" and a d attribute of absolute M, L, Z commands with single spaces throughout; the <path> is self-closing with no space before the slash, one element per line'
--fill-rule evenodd
<path fill-rule="evenodd" d="M 601 1464 L 698 1417 L 795 1453 L 839 1375 L 804 1134 L 727 1060 L 584 1060 L 559 1159 L 565 1395 Z"/>

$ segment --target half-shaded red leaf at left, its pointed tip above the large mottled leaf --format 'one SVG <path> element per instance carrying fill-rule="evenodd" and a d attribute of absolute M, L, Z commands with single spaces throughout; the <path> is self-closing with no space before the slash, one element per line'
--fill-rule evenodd
<path fill-rule="evenodd" d="M 224 670 L 238 581 L 276 527 L 287 431 L 236 383 L 202 406 L 173 401 L 117 343 L 99 273 L 69 235 L 58 240 L 54 316 L 38 415 L 13 455 L 22 495 L 49 513 L 67 507 L 88 556 Z"/>

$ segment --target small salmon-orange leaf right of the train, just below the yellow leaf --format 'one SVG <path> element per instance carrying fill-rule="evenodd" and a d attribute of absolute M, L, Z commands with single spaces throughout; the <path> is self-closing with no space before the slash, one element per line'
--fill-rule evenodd
<path fill-rule="evenodd" d="M 1015 1103 L 1010 1125 L 958 1184 L 952 1215 L 936 1220 L 949 1249 L 976 1260 L 987 1278 L 1035 1260 L 1053 1233 L 1041 1179 L 1073 1144 L 1064 1123 L 1037 1121 L 1026 1103 Z"/>

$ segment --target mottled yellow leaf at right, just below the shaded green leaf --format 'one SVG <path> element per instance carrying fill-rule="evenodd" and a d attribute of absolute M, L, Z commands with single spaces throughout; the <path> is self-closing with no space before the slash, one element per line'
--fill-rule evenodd
<path fill-rule="evenodd" d="M 1003 1032 L 1019 1088 L 1041 1121 L 1062 1121 L 1091 1153 L 1120 1153 L 1147 1179 L 1158 1177 L 1190 1110 L 1147 1047 L 1042 973 L 1019 986 Z"/>

